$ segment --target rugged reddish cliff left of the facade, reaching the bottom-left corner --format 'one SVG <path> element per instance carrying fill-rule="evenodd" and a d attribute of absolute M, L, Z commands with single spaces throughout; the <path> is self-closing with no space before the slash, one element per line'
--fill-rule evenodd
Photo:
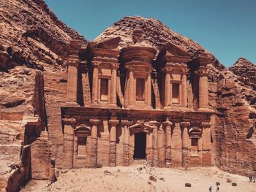
<path fill-rule="evenodd" d="M 0 1 L 0 31 L 0 191 L 16 191 L 31 166 L 35 179 L 52 169 L 43 71 L 64 71 L 69 42 L 87 41 L 42 0 Z"/>

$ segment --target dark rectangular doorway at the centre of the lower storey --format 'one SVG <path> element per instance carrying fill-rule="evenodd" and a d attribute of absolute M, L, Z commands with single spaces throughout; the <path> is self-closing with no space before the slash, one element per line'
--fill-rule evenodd
<path fill-rule="evenodd" d="M 134 159 L 146 158 L 146 133 L 140 132 L 135 134 L 135 151 Z"/>

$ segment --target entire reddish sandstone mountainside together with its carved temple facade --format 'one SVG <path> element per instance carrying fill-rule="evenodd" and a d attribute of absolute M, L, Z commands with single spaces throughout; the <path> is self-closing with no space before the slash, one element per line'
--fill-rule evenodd
<path fill-rule="evenodd" d="M 50 179 L 53 161 L 255 174 L 254 64 L 227 69 L 153 18 L 122 18 L 87 42 L 44 1 L 0 6 L 3 191 Z"/>

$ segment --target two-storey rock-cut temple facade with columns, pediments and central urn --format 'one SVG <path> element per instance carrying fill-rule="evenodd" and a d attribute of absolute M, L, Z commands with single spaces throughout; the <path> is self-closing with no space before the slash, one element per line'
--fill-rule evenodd
<path fill-rule="evenodd" d="M 211 165 L 211 59 L 172 43 L 156 50 L 144 38 L 135 26 L 131 46 L 119 48 L 121 37 L 86 49 L 71 42 L 63 167 Z"/>

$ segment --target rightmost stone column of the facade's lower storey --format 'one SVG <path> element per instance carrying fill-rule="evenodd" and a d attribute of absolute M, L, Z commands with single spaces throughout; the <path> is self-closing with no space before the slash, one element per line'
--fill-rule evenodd
<path fill-rule="evenodd" d="M 211 165 L 211 123 L 202 123 L 202 164 Z"/>

